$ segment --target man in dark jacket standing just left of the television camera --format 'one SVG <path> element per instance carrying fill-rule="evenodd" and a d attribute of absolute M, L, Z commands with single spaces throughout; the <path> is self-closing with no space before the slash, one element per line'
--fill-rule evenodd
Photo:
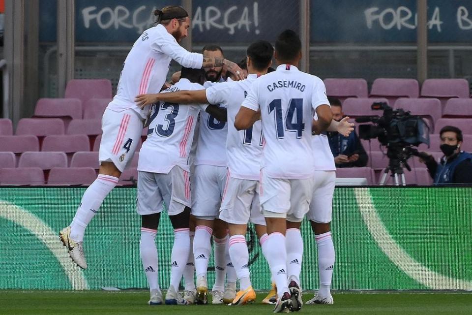
<path fill-rule="evenodd" d="M 341 101 L 328 97 L 333 113 L 333 120 L 340 121 L 344 117 Z M 345 137 L 338 132 L 326 132 L 329 147 L 334 156 L 336 167 L 363 167 L 367 165 L 367 154 L 357 134 L 351 132 Z"/>

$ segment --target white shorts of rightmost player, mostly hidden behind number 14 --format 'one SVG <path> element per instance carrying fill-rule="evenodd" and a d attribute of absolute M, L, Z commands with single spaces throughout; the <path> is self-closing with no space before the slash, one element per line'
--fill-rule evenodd
<path fill-rule="evenodd" d="M 311 199 L 310 210 L 306 217 L 308 220 L 317 223 L 331 222 L 336 172 L 316 171 L 314 179 L 313 198 Z"/>

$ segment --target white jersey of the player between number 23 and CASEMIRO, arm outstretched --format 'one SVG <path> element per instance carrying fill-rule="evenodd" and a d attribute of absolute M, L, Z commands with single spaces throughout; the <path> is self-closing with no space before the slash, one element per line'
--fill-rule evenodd
<path fill-rule="evenodd" d="M 235 118 L 256 78 L 249 74 L 244 80 L 215 84 L 206 91 L 210 104 L 222 104 L 228 110 L 226 151 L 231 177 L 254 181 L 261 173 L 262 125 L 257 121 L 250 129 L 237 131 Z"/>

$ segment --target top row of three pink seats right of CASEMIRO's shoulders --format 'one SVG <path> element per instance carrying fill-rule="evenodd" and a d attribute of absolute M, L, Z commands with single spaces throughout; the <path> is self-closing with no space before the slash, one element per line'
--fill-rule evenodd
<path fill-rule="evenodd" d="M 465 79 L 427 79 L 419 89 L 415 79 L 374 80 L 370 94 L 364 79 L 324 79 L 326 94 L 344 100 L 348 97 L 384 97 L 395 101 L 399 97 L 434 97 L 441 101 L 449 98 L 469 98 L 469 82 Z"/>

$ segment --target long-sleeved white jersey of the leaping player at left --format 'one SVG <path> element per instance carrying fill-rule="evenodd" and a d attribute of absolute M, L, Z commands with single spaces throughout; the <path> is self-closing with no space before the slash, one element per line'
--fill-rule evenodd
<path fill-rule="evenodd" d="M 134 99 L 139 94 L 160 92 L 172 59 L 187 68 L 199 69 L 203 63 L 202 54 L 185 50 L 161 24 L 144 31 L 123 63 L 117 95 L 107 108 L 116 112 L 131 108 L 146 118 L 149 106 L 140 109 Z"/>

